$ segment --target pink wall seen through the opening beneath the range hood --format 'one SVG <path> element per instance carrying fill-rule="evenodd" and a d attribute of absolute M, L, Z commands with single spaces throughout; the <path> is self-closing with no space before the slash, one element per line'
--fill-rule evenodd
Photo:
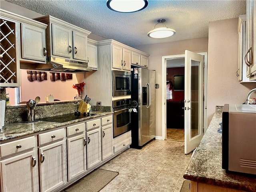
<path fill-rule="evenodd" d="M 45 96 L 52 94 L 54 99 L 58 100 L 74 100 L 74 96 L 77 94 L 77 90 L 72 88 L 73 84 L 84 81 L 84 74 L 73 74 L 72 80 L 54 82 L 50 81 L 50 72 L 47 72 L 47 80 L 41 82 L 28 81 L 28 75 L 26 70 L 21 71 L 21 101 L 28 101 L 34 99 L 36 96 L 41 98 L 40 102 L 45 102 Z"/>

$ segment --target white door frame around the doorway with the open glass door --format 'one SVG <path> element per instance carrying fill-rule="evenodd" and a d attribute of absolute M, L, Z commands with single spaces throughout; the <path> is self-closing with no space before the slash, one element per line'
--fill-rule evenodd
<path fill-rule="evenodd" d="M 208 70 L 207 70 L 207 52 L 200 52 L 204 56 L 204 117 L 203 117 L 203 131 L 207 129 L 207 84 L 208 84 Z M 166 60 L 175 58 L 185 58 L 184 54 L 162 56 L 162 140 L 166 139 Z"/>

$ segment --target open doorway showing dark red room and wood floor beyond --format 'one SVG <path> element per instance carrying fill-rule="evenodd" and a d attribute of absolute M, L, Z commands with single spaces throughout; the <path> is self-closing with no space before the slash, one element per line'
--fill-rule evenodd
<path fill-rule="evenodd" d="M 185 58 L 166 59 L 166 139 L 184 142 Z"/>

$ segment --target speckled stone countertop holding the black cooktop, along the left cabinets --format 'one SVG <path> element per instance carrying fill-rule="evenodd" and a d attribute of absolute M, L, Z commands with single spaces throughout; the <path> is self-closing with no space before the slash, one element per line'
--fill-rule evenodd
<path fill-rule="evenodd" d="M 31 122 L 31 123 L 12 123 L 12 124 L 6 124 L 3 127 L 3 130 L 0 131 L 0 142 L 13 139 L 13 138 L 18 138 L 21 136 L 26 136 L 29 134 L 34 134 L 37 132 L 45 131 L 45 130 L 50 130 L 53 128 L 58 128 L 62 126 L 67 126 L 70 124 L 78 123 L 81 121 L 105 116 L 108 114 L 112 114 L 113 112 L 97 112 L 93 111 L 92 113 L 96 114 L 94 116 L 89 116 L 89 117 L 84 117 L 84 118 L 79 118 L 76 120 L 72 121 L 67 121 L 63 123 L 59 122 L 47 122 L 47 121 L 37 121 L 37 122 Z"/>

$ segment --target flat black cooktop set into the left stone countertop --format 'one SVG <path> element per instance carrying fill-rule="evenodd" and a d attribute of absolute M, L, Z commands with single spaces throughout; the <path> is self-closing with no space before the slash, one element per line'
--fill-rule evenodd
<path fill-rule="evenodd" d="M 96 115 L 96 114 L 75 112 L 72 114 L 64 114 L 64 115 L 58 115 L 58 116 L 53 116 L 53 117 L 46 117 L 46 118 L 41 118 L 38 120 L 63 123 L 63 122 L 72 121 L 72 120 L 76 120 L 76 119 L 80 119 L 80 118 L 94 116 L 94 115 Z"/>

